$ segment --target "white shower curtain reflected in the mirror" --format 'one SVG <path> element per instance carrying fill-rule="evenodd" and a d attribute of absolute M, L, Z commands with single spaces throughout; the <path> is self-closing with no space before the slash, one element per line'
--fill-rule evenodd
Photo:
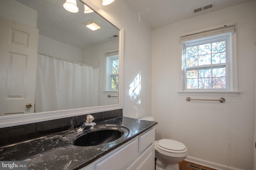
<path fill-rule="evenodd" d="M 38 54 L 35 112 L 98 106 L 98 69 Z"/>

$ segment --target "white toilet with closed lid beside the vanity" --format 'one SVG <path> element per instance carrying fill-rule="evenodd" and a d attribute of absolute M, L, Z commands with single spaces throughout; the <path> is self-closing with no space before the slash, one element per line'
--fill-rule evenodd
<path fill-rule="evenodd" d="M 142 117 L 141 120 L 154 121 L 154 117 Z M 171 139 L 155 141 L 156 170 L 179 170 L 179 163 L 188 155 L 187 147 Z"/>

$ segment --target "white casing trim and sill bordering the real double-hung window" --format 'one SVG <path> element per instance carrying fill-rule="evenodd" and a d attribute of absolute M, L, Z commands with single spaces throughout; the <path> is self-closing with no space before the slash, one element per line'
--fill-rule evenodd
<path fill-rule="evenodd" d="M 235 30 L 235 29 L 234 29 Z M 205 31 L 207 32 L 207 31 Z M 218 31 L 216 31 L 218 33 Z M 192 34 L 193 38 L 192 40 L 190 40 L 189 38 L 184 38 L 185 36 L 182 36 L 180 39 L 180 52 L 182 54 L 182 60 L 181 61 L 181 68 L 180 68 L 180 85 L 179 85 L 179 90 L 178 90 L 178 94 L 179 95 L 192 95 L 192 96 L 220 96 L 220 95 L 224 95 L 224 96 L 238 96 L 238 94 L 240 93 L 240 91 L 238 91 L 238 64 L 237 64 L 237 42 L 236 42 L 236 31 L 229 31 L 228 33 L 223 33 L 223 32 L 219 32 L 214 33 L 214 35 L 208 35 L 205 34 L 204 37 L 202 38 L 202 32 L 199 33 L 198 38 L 196 38 L 196 33 Z M 186 74 L 184 74 L 185 70 L 184 70 L 184 42 L 190 42 L 192 44 L 192 42 L 194 42 L 195 44 L 198 43 L 198 41 L 200 42 L 204 42 L 202 39 L 206 39 L 205 42 L 207 41 L 212 41 L 212 39 L 218 39 L 219 37 L 222 37 L 224 35 L 229 35 L 229 53 L 228 55 L 228 63 L 226 63 L 226 69 L 228 69 L 228 74 L 226 75 L 227 79 L 228 79 L 228 84 L 226 84 L 226 89 L 186 89 L 186 78 L 184 76 L 186 76 Z M 184 41 L 185 40 L 185 41 Z"/>

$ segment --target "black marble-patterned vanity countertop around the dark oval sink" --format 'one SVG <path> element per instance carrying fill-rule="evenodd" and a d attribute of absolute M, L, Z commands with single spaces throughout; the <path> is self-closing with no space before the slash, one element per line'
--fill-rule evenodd
<path fill-rule="evenodd" d="M 108 145 L 79 147 L 71 143 L 72 139 L 78 135 L 74 129 L 62 131 L 0 147 L 0 160 L 26 160 L 29 170 L 77 170 L 130 141 L 156 125 L 157 122 L 117 117 L 97 123 L 97 125 L 102 124 L 121 125 L 129 130 L 129 134 Z"/>

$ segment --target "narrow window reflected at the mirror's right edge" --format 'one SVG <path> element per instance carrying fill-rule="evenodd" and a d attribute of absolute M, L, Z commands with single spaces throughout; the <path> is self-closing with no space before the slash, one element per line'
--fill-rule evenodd
<path fill-rule="evenodd" d="M 119 55 L 106 57 L 106 91 L 118 90 Z"/>

